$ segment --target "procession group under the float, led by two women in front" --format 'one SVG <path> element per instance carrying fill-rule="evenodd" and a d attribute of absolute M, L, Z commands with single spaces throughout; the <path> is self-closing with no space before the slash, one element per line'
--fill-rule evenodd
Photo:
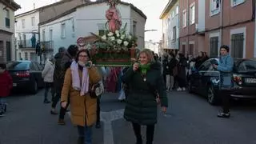
<path fill-rule="evenodd" d="M 78 143 L 90 144 L 94 123 L 96 128 L 101 128 L 101 96 L 92 97 L 90 90 L 102 82 L 106 92 L 119 93 L 118 100 L 126 102 L 124 118 L 132 123 L 137 143 L 142 143 L 140 126 L 146 125 L 146 143 L 151 144 L 157 122 L 156 99 L 161 99 L 162 111 L 168 106 L 161 68 L 150 50 L 142 50 L 132 67 L 97 67 L 90 61 L 88 50 L 78 50 L 74 45 L 67 50 L 61 47 L 54 58 L 47 59 L 42 71 L 46 83 L 43 102 L 50 103 L 48 94 L 52 88 L 50 114 L 58 114 L 56 105 L 60 101 L 58 124 L 65 125 L 66 108 L 70 105 L 71 120 L 78 126 Z"/>

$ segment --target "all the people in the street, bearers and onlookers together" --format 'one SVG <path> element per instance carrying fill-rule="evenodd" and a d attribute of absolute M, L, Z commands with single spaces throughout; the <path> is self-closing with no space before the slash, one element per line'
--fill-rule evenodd
<path fill-rule="evenodd" d="M 213 64 L 222 75 L 222 87 L 231 86 L 229 78 L 233 68 L 233 59 L 228 54 L 229 47 L 221 47 L 220 63 Z M 64 117 L 70 106 L 71 120 L 78 127 L 78 144 L 92 143 L 92 126 L 100 128 L 101 94 L 95 94 L 94 87 L 101 83 L 107 92 L 119 92 L 119 100 L 126 101 L 124 118 L 131 122 L 136 144 L 142 144 L 141 126 L 146 126 L 146 144 L 154 141 L 154 126 L 157 123 L 157 107 L 166 112 L 168 99 L 166 91 L 186 90 L 187 77 L 191 68 L 198 67 L 208 59 L 205 52 L 197 58 L 184 54 L 166 54 L 160 62 L 157 54 L 151 50 L 142 50 L 132 66 L 97 67 L 90 61 L 90 52 L 71 45 L 66 50 L 58 49 L 54 58 L 47 59 L 42 78 L 45 82 L 43 102 L 50 103 L 50 114 L 58 114 L 58 124 L 65 125 Z M 194 64 L 193 64 L 194 63 Z M 225 83 L 225 85 L 224 85 Z M 101 85 L 100 85 L 101 86 Z M 10 94 L 12 78 L 5 64 L 0 64 L 0 115 L 6 109 L 6 96 Z M 51 90 L 50 90 L 51 89 Z M 226 90 L 226 89 L 225 89 Z M 222 91 L 223 111 L 218 117 L 229 118 L 229 94 Z M 56 106 L 60 102 L 60 110 Z M 59 112 L 59 113 L 58 113 Z"/>

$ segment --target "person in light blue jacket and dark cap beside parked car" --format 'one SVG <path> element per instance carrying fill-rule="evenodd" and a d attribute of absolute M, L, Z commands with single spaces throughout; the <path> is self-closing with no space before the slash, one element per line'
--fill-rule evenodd
<path fill-rule="evenodd" d="M 222 113 L 218 114 L 219 118 L 230 118 L 230 90 L 233 86 L 232 71 L 234 60 L 229 54 L 229 46 L 220 47 L 220 58 L 218 65 L 213 64 L 214 68 L 220 72 L 220 94 L 222 98 Z"/>

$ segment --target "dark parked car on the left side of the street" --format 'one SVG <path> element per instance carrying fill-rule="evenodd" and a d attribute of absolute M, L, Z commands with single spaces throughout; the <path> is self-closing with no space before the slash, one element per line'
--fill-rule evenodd
<path fill-rule="evenodd" d="M 43 67 L 38 62 L 7 62 L 6 68 L 13 78 L 14 90 L 23 89 L 28 90 L 31 94 L 37 94 L 38 88 L 44 86 L 42 80 Z"/>

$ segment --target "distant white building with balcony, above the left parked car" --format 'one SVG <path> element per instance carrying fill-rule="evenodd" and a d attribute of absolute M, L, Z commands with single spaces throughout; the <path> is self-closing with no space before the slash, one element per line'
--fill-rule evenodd
<path fill-rule="evenodd" d="M 15 16 L 16 58 L 18 60 L 38 61 L 36 43 L 38 42 L 39 11 L 31 10 Z"/>

